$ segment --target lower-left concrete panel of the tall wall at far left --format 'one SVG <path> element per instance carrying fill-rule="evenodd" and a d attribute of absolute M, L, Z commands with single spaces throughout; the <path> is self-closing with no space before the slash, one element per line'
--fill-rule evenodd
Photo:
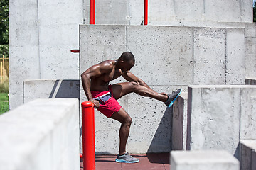
<path fill-rule="evenodd" d="M 20 42 L 18 42 L 20 43 Z M 23 79 L 38 79 L 38 46 L 23 45 L 9 47 L 9 106 L 10 109 L 23 104 Z"/>

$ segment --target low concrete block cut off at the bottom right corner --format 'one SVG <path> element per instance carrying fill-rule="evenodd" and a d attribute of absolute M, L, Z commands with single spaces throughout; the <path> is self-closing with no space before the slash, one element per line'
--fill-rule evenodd
<path fill-rule="evenodd" d="M 241 170 L 256 169 L 256 140 L 240 140 Z"/>

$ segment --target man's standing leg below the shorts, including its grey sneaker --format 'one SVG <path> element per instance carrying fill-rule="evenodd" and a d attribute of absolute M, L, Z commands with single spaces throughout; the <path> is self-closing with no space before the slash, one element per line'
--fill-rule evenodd
<path fill-rule="evenodd" d="M 116 162 L 139 162 L 139 159 L 130 156 L 128 152 L 126 152 L 126 144 L 129 136 L 129 128 L 132 124 L 132 118 L 126 111 L 124 111 L 123 108 L 121 108 L 117 113 L 113 113 L 110 118 L 113 118 L 122 123 L 119 130 L 119 154 L 117 155 Z"/>

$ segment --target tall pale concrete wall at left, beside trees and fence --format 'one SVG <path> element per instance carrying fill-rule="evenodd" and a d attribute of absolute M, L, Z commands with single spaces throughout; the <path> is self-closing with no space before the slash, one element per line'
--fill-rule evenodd
<path fill-rule="evenodd" d="M 10 108 L 23 101 L 25 79 L 79 79 L 78 24 L 82 0 L 10 1 Z"/>

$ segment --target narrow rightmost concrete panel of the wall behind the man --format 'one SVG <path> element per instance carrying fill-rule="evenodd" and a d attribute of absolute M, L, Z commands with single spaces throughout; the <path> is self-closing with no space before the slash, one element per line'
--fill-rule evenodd
<path fill-rule="evenodd" d="M 227 29 L 226 84 L 245 82 L 245 33 L 244 29 Z"/>

